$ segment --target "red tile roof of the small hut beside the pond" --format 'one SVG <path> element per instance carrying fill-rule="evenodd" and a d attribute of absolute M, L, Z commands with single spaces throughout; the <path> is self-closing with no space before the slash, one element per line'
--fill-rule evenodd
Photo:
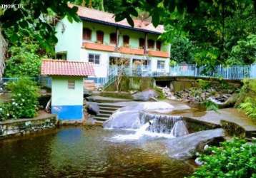
<path fill-rule="evenodd" d="M 41 63 L 41 75 L 92 76 L 92 63 L 44 59 Z"/>

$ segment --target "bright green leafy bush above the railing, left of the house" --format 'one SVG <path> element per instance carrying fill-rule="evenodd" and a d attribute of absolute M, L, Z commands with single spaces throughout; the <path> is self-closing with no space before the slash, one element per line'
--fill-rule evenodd
<path fill-rule="evenodd" d="M 39 46 L 36 44 L 21 43 L 21 46 L 11 46 L 11 57 L 6 61 L 6 77 L 38 77 L 41 58 L 37 54 Z"/>

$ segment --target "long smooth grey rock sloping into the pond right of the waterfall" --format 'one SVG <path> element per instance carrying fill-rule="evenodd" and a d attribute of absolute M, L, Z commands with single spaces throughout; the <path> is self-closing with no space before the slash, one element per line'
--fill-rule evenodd
<path fill-rule="evenodd" d="M 224 137 L 224 130 L 218 128 L 215 130 L 195 132 L 182 137 L 174 137 L 165 141 L 165 144 L 169 157 L 189 159 L 195 156 L 199 145 L 207 145 L 209 142 L 222 137 Z"/>

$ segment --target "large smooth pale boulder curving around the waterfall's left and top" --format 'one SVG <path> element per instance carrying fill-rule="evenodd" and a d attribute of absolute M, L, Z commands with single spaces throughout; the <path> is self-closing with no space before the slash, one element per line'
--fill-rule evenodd
<path fill-rule="evenodd" d="M 167 113 L 171 112 L 174 107 L 165 102 L 144 102 L 119 108 L 114 112 L 109 120 L 103 123 L 104 128 L 139 128 L 142 123 L 139 119 L 139 112 L 150 111 Z"/>

